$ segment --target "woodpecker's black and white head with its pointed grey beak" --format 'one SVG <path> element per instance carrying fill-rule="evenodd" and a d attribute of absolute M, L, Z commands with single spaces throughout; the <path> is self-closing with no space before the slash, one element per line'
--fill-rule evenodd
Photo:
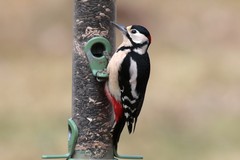
<path fill-rule="evenodd" d="M 149 46 L 151 35 L 149 31 L 141 25 L 123 26 L 112 22 L 123 34 L 123 45 L 125 46 Z"/>

